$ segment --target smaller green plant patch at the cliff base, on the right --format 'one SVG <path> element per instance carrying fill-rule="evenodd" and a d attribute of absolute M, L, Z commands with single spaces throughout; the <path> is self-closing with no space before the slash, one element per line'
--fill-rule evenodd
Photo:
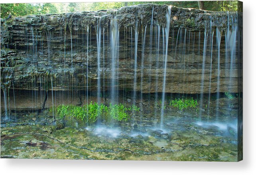
<path fill-rule="evenodd" d="M 198 109 L 197 100 L 191 99 L 184 99 L 184 98 L 175 98 L 175 100 L 171 100 L 169 106 L 173 106 L 175 108 L 179 108 L 179 110 L 191 108 L 191 109 Z"/>

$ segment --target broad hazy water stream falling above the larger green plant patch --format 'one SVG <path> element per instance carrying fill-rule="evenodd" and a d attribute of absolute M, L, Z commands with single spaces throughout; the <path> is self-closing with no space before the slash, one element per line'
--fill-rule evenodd
<path fill-rule="evenodd" d="M 112 52 L 112 82 L 111 82 L 111 103 L 114 104 L 118 102 L 118 87 L 116 86 L 116 69 L 118 63 L 118 47 L 119 47 L 119 26 L 118 19 L 114 17 L 110 21 L 110 30 L 111 30 L 111 52 Z"/>

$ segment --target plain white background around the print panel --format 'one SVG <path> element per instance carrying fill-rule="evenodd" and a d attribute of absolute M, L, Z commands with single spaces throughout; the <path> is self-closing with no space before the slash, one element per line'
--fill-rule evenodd
<path fill-rule="evenodd" d="M 91 0 L 95 1 L 95 0 Z M 97 2 L 99 2 L 98 0 Z M 102 0 L 101 0 L 102 1 Z M 104 0 L 103 0 L 104 1 Z M 109 0 L 114 1 L 114 0 Z M 118 1 L 118 0 L 116 0 Z M 119 0 L 121 1 L 121 0 Z M 134 0 L 135 1 L 135 0 Z M 140 0 L 142 1 L 142 0 Z M 149 0 L 148 0 L 149 1 Z M 242 162 L 165 162 L 106 160 L 31 160 L 0 159 L 1 174 L 74 175 L 74 174 L 157 174 L 157 175 L 255 175 L 256 174 L 256 1 L 244 2 L 244 160 Z M 37 2 L 1 0 L 2 3 Z M 90 0 L 40 0 L 39 2 L 90 2 Z"/>

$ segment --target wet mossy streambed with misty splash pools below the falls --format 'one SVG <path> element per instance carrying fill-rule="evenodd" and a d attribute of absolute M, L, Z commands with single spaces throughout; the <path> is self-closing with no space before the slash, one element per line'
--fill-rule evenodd
<path fill-rule="evenodd" d="M 207 122 L 197 116 L 169 114 L 166 125 L 159 129 L 159 118 L 148 121 L 148 115 L 118 125 L 102 121 L 87 127 L 64 127 L 51 119 L 40 125 L 47 121 L 43 115 L 33 124 L 10 126 L 7 122 L 1 125 L 1 158 L 237 160 L 236 126 L 229 124 L 234 119 Z M 22 123 L 22 119 L 16 122 Z"/>

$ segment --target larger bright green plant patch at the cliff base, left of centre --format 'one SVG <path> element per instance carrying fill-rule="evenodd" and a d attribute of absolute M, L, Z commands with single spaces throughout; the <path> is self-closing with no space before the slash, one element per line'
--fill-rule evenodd
<path fill-rule="evenodd" d="M 52 112 L 54 109 L 50 109 Z M 131 112 L 138 112 L 140 108 L 135 105 L 132 105 L 126 108 L 122 104 L 110 104 L 106 106 L 104 104 L 98 104 L 91 102 L 84 106 L 73 106 L 73 105 L 61 105 L 55 110 L 55 115 L 59 119 L 64 119 L 65 117 L 73 117 L 86 123 L 95 123 L 97 119 L 105 119 L 109 121 L 111 119 L 117 121 L 127 121 L 130 119 Z"/>

